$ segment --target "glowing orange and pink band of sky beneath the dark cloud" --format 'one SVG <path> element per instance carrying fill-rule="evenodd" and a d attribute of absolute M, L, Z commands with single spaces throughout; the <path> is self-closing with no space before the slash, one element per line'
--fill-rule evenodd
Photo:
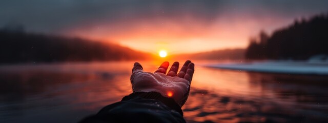
<path fill-rule="evenodd" d="M 192 20 L 137 19 L 131 20 L 133 23 L 95 24 L 87 29 L 70 30 L 70 33 L 118 43 L 139 51 L 157 53 L 166 50 L 169 54 L 177 54 L 245 48 L 249 38 L 256 36 L 260 30 L 270 33 L 275 27 L 293 23 L 293 19 L 242 15 L 213 19 L 207 24 Z"/>

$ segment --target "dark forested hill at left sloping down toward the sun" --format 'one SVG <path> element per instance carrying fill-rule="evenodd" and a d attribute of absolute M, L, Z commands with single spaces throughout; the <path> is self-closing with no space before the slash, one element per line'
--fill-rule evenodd
<path fill-rule="evenodd" d="M 0 30 L 0 64 L 147 58 L 146 53 L 116 44 Z"/>

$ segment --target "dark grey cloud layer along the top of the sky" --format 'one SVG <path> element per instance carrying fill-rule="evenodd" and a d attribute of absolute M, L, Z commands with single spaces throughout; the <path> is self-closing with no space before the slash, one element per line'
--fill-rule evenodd
<path fill-rule="evenodd" d="M 57 33 L 78 26 L 96 24 L 131 26 L 170 19 L 209 24 L 211 20 L 236 16 L 309 16 L 327 12 L 328 1 L 87 1 L 87 0 L 3 0 L 0 26 L 15 22 L 27 30 Z"/>

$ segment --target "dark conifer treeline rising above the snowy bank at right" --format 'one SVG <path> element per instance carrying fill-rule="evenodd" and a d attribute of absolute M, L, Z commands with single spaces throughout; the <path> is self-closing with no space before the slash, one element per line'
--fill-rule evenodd
<path fill-rule="evenodd" d="M 308 59 L 318 54 L 328 55 L 328 14 L 276 30 L 271 36 L 260 32 L 250 40 L 247 59 Z"/>

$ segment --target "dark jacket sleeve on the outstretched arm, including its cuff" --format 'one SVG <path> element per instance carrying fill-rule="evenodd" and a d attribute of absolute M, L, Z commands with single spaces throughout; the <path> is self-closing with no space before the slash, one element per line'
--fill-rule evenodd
<path fill-rule="evenodd" d="M 136 92 L 80 122 L 186 122 L 173 98 L 157 92 Z"/>

